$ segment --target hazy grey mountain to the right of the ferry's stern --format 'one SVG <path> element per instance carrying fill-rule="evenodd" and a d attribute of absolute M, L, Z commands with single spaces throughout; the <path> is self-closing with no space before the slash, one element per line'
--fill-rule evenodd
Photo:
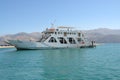
<path fill-rule="evenodd" d="M 120 30 L 99 28 L 84 32 L 89 40 L 97 43 L 120 43 Z"/>

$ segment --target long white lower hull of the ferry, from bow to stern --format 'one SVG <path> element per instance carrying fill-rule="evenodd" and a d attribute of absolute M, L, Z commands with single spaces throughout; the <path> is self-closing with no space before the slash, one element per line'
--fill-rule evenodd
<path fill-rule="evenodd" d="M 34 41 L 8 40 L 6 43 L 14 46 L 17 50 L 45 50 L 45 49 L 63 49 L 63 48 L 87 48 L 86 44 L 58 44 Z"/>

